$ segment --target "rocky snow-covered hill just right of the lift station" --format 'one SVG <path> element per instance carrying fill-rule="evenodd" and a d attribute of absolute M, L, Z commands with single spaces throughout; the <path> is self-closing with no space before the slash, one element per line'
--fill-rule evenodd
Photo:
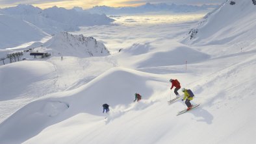
<path fill-rule="evenodd" d="M 103 43 L 97 42 L 95 38 L 85 37 L 83 34 L 77 36 L 68 32 L 60 32 L 42 45 L 51 49 L 48 52 L 60 53 L 62 56 L 86 58 L 109 55 L 109 51 Z"/>

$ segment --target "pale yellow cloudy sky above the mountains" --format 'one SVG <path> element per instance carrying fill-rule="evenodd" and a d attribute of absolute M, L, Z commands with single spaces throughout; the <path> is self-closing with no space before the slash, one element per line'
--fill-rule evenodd
<path fill-rule="evenodd" d="M 209 5 L 209 4 L 220 4 L 225 0 L 0 0 L 0 8 L 16 6 L 18 4 L 29 4 L 38 6 L 40 8 L 49 8 L 52 6 L 73 8 L 73 6 L 80 6 L 84 9 L 92 8 L 96 5 L 106 6 L 139 6 L 145 3 L 175 3 L 177 5 Z"/>

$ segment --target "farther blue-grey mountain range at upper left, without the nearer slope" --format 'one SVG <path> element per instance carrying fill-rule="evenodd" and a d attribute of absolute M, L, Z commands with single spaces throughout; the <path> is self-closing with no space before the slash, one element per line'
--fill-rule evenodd
<path fill-rule="evenodd" d="M 68 10 L 57 6 L 42 10 L 32 5 L 18 5 L 0 10 L 2 14 L 28 21 L 49 34 L 62 30 L 79 30 L 78 27 L 81 26 L 109 25 L 114 21 L 104 14 L 90 14 L 77 8 Z"/>

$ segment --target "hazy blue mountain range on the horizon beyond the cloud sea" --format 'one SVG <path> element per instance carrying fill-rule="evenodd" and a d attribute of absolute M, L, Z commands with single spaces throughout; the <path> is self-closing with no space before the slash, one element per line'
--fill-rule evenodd
<path fill-rule="evenodd" d="M 142 6 L 136 7 L 119 7 L 114 8 L 110 6 L 94 6 L 88 9 L 88 12 L 95 14 L 135 14 L 144 12 L 196 12 L 199 10 L 207 10 L 209 8 L 216 8 L 218 5 L 167 5 L 166 3 L 151 4 L 146 3 Z"/>

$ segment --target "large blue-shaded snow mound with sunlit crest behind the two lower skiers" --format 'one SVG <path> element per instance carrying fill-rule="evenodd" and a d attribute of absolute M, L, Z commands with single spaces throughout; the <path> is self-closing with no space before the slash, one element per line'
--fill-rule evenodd
<path fill-rule="evenodd" d="M 104 73 L 103 75 L 97 77 L 96 79 L 86 84 L 86 86 L 82 86 L 79 89 L 73 91 L 66 91 L 58 95 L 57 98 L 51 97 L 49 99 L 45 99 L 42 101 L 32 102 L 31 104 L 25 106 L 24 108 L 19 110 L 18 113 L 14 115 L 14 117 L 9 118 L 12 119 L 11 121 L 13 122 L 3 122 L 2 130 L 6 131 L 5 134 L 1 134 L 1 139 L 8 139 L 8 136 L 12 137 L 10 133 L 12 133 L 13 130 L 21 131 L 23 128 L 26 128 L 27 132 L 24 132 L 21 135 L 16 135 L 16 139 L 13 139 L 14 141 L 12 141 L 14 143 L 20 143 L 21 141 L 31 136 L 31 134 L 29 133 L 34 134 L 40 132 L 40 130 L 42 130 L 42 125 L 47 126 L 48 121 L 48 123 L 52 125 L 54 117 L 62 115 L 61 113 L 63 111 L 64 113 L 68 111 L 67 114 L 64 114 L 66 115 L 64 117 L 70 117 L 71 115 L 79 114 L 81 113 L 81 110 L 83 110 L 84 108 L 86 110 L 86 113 L 88 114 L 100 115 L 99 111 L 101 111 L 101 108 L 99 108 L 99 106 L 101 106 L 102 102 L 112 101 L 112 106 L 116 106 L 119 104 L 128 104 L 132 100 L 130 97 L 130 95 L 133 95 L 132 91 L 136 90 L 136 86 L 145 86 L 147 79 L 148 77 L 144 77 L 142 73 L 134 73 L 134 71 L 125 69 L 112 69 L 111 71 Z M 114 80 L 114 83 L 109 84 L 110 80 Z M 127 81 L 127 85 L 122 84 L 123 81 Z M 116 84 L 118 84 L 117 88 Z M 134 87 L 131 88 L 131 90 L 129 90 L 129 88 L 127 89 L 127 86 L 130 86 L 130 84 L 134 85 Z M 106 85 L 109 85 L 109 90 L 106 89 L 99 91 Z M 125 93 L 124 95 L 124 89 L 127 89 L 126 91 L 130 92 Z M 151 89 L 149 89 L 149 86 L 145 86 L 144 91 L 148 91 L 147 94 L 152 93 Z M 68 97 L 70 93 L 75 93 L 75 95 Z M 86 95 L 94 95 L 94 97 L 92 97 L 90 101 L 87 101 L 88 97 L 86 97 Z M 107 95 L 112 95 L 112 98 L 109 99 L 109 97 L 106 97 Z M 101 101 L 98 101 L 99 99 L 101 99 Z M 116 99 L 120 99 L 120 101 L 114 102 Z M 38 108 L 32 108 L 34 106 Z M 84 112 L 84 110 L 82 112 Z M 36 115 L 40 115 L 40 117 Z M 20 121 L 21 123 L 17 123 L 17 126 L 12 126 L 16 125 L 16 121 L 21 117 L 23 117 L 24 121 Z M 30 123 L 29 121 L 34 121 L 34 123 Z M 14 129 L 10 128 L 9 126 L 12 126 Z M 3 142 L 8 143 L 8 141 Z"/>

